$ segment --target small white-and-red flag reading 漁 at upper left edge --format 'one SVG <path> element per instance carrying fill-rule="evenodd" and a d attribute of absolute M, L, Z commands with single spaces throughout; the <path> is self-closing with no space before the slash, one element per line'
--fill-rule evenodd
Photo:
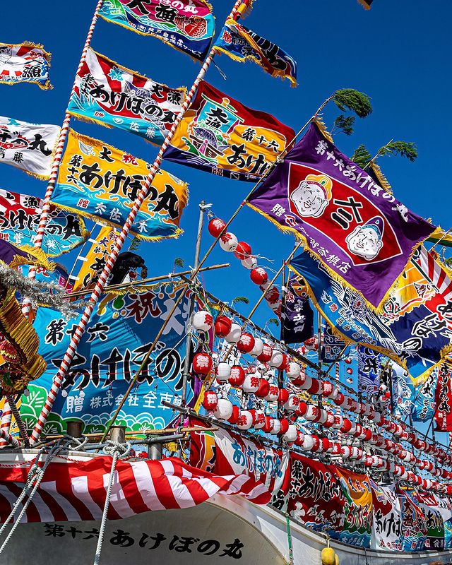
<path fill-rule="evenodd" d="M 0 83 L 36 83 L 42 90 L 52 88 L 49 82 L 51 57 L 42 45 L 28 41 L 0 43 Z"/>

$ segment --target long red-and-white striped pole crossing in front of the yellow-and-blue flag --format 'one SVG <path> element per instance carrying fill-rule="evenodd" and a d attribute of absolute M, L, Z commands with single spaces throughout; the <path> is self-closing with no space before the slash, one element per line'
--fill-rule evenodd
<path fill-rule="evenodd" d="M 243 4 L 242 0 L 237 0 L 228 18 L 234 18 L 235 13 L 237 12 L 237 8 L 242 4 Z M 199 83 L 203 80 L 204 76 L 206 75 L 207 69 L 209 68 L 210 64 L 213 61 L 213 57 L 215 57 L 215 51 L 213 49 L 210 49 L 208 57 L 203 62 L 203 66 L 201 66 L 201 70 L 199 71 L 196 80 L 194 81 L 188 95 L 186 96 L 186 99 L 184 100 L 184 104 L 182 105 L 182 111 L 174 120 L 174 124 L 172 124 L 172 128 L 169 130 L 168 136 L 165 138 L 165 141 L 163 142 L 162 147 L 160 148 L 160 151 L 157 154 L 157 157 L 155 157 L 155 161 L 153 162 L 152 167 L 150 167 L 150 171 L 148 177 L 144 182 L 143 188 L 136 197 L 136 201 L 133 203 L 133 207 L 131 208 L 129 215 L 126 218 L 126 222 L 122 227 L 121 233 L 117 237 L 116 243 L 114 245 L 114 249 L 109 254 L 104 270 L 102 270 L 102 274 L 100 275 L 99 280 L 97 281 L 97 285 L 95 286 L 90 296 L 88 305 L 85 307 L 85 310 L 83 311 L 81 321 L 80 323 L 78 323 L 76 331 L 73 333 L 71 343 L 69 344 L 66 353 L 64 354 L 64 358 L 61 362 L 59 370 L 57 374 L 54 376 L 54 381 L 52 383 L 52 387 L 50 388 L 49 394 L 47 395 L 47 400 L 45 401 L 40 417 L 36 422 L 35 429 L 33 429 L 30 438 L 31 444 L 35 444 L 40 438 L 42 429 L 44 428 L 44 424 L 47 421 L 47 417 L 49 416 L 49 413 L 52 410 L 54 401 L 57 398 L 59 389 L 61 388 L 61 383 L 64 379 L 64 376 L 66 376 L 67 372 L 69 371 L 69 367 L 71 365 L 73 356 L 77 350 L 78 343 L 80 343 L 81 337 L 85 332 L 85 328 L 88 322 L 90 321 L 91 314 L 93 314 L 94 307 L 97 304 L 97 301 L 99 300 L 105 285 L 107 284 L 107 279 L 109 278 L 109 275 L 112 271 L 112 268 L 114 267 L 114 263 L 117 260 L 117 256 L 119 255 L 119 252 L 121 251 L 124 242 L 126 242 L 127 235 L 131 230 L 133 221 L 136 218 L 138 210 L 140 209 L 141 204 L 143 203 L 146 196 L 148 196 L 150 185 L 153 182 L 153 179 L 155 177 L 155 174 L 157 173 L 158 168 L 160 167 L 160 163 L 162 162 L 163 153 L 165 153 L 166 148 L 168 147 L 169 143 L 171 143 L 172 138 L 174 136 L 174 132 L 176 131 L 177 126 L 179 126 L 179 123 L 182 120 L 182 117 L 184 116 L 186 109 L 191 104 L 191 100 L 193 99 L 196 93 L 196 89 L 198 88 Z"/>

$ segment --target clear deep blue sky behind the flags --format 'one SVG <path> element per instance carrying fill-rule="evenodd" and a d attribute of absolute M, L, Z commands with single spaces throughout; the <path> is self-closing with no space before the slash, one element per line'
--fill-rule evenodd
<path fill-rule="evenodd" d="M 81 49 L 95 8 L 95 0 L 36 2 L 23 0 L 5 7 L 0 42 L 39 42 L 52 52 L 53 90 L 37 85 L 0 85 L 1 114 L 25 121 L 61 124 L 76 72 Z M 233 0 L 212 0 L 217 33 Z M 8 13 L 9 12 L 9 13 Z M 298 63 L 298 88 L 272 78 L 255 64 L 238 64 L 225 56 L 216 62 L 225 81 L 212 66 L 207 80 L 251 108 L 270 112 L 297 131 L 321 102 L 338 88 L 357 88 L 372 100 L 374 112 L 357 120 L 355 133 L 335 136 L 340 150 L 351 155 L 360 143 L 372 154 L 391 138 L 415 141 L 419 158 L 414 164 L 400 157 L 383 157 L 380 165 L 396 196 L 417 214 L 432 218 L 436 225 L 451 225 L 450 182 L 437 171 L 448 159 L 451 112 L 450 24 L 452 5 L 424 0 L 375 0 L 371 11 L 356 0 L 256 0 L 244 24 L 273 40 Z M 99 20 L 92 47 L 119 64 L 171 86 L 193 83 L 199 66 L 188 56 L 152 37 Z M 324 114 L 331 126 L 340 112 L 330 105 Z M 72 121 L 81 133 L 97 137 L 153 161 L 157 148 L 142 138 L 117 129 Z M 198 203 L 213 203 L 213 211 L 225 220 L 237 208 L 250 184 L 221 179 L 205 172 L 172 163 L 169 172 L 190 185 L 189 207 L 182 218 L 185 233 L 178 240 L 142 244 L 150 275 L 172 270 L 175 257 L 192 264 L 198 223 Z M 0 167 L 0 187 L 23 194 L 44 195 L 45 183 L 13 167 Z M 255 254 L 274 260 L 279 268 L 291 251 L 292 237 L 280 234 L 267 220 L 245 208 L 232 224 L 239 240 L 251 244 Z M 203 250 L 211 238 L 205 230 Z M 76 254 L 63 259 L 70 265 Z M 215 249 L 209 264 L 230 260 L 229 270 L 203 276 L 206 286 L 220 298 L 245 295 L 250 306 L 258 289 L 249 271 L 234 256 Z M 262 266 L 270 266 L 262 261 Z M 246 314 L 249 307 L 240 307 Z M 272 312 L 262 304 L 256 321 L 265 323 Z"/>

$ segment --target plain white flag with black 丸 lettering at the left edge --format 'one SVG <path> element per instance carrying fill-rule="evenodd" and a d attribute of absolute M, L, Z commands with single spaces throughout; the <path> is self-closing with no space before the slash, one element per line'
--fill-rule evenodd
<path fill-rule="evenodd" d="M 47 180 L 60 130 L 51 124 L 29 124 L 0 116 L 0 162 Z"/>

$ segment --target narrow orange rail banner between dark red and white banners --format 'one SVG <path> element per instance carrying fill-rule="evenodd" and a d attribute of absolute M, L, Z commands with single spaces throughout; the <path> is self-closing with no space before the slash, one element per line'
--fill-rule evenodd
<path fill-rule="evenodd" d="M 345 496 L 345 519 L 338 533 L 340 542 L 369 547 L 372 530 L 372 493 L 369 477 L 347 469 L 333 467 L 340 478 Z"/>

